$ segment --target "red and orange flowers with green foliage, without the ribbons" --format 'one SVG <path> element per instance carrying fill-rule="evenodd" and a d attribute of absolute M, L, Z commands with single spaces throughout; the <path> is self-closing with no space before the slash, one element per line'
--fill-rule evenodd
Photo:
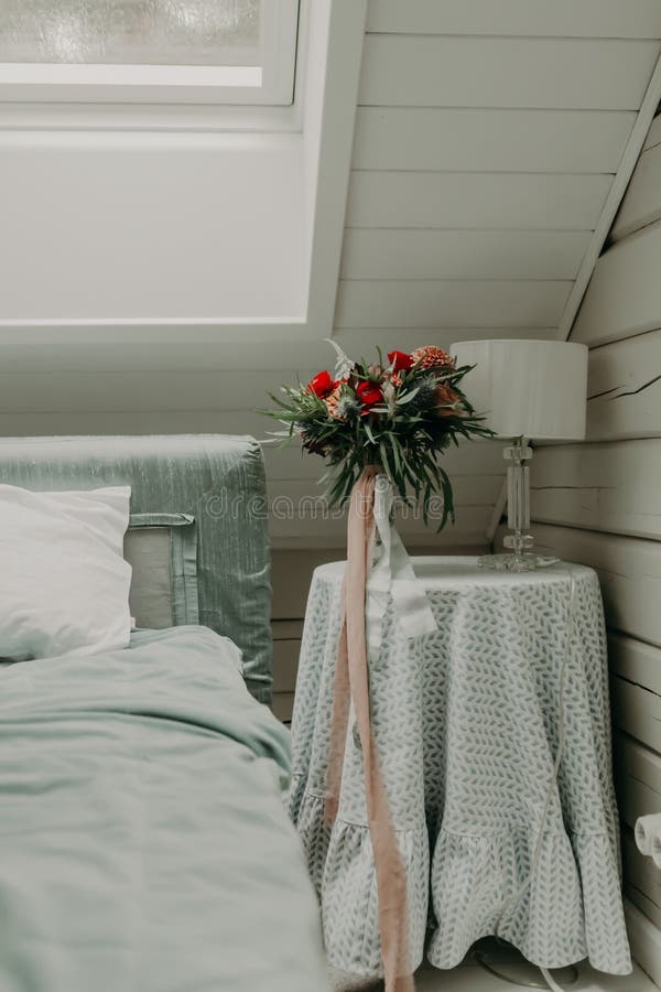
<path fill-rule="evenodd" d="M 285 440 L 326 459 L 332 505 L 344 505 L 366 468 L 384 474 L 407 504 L 422 502 L 424 522 L 431 502 L 442 499 L 438 530 L 454 522 L 452 483 L 438 455 L 459 438 L 489 438 L 491 431 L 460 389 L 472 366 L 456 368 L 444 351 L 427 346 L 411 354 L 390 352 L 383 362 L 354 362 L 337 351 L 335 374 L 321 371 L 306 386 L 283 386 L 271 395 L 277 410 L 263 411 L 284 423 Z"/>

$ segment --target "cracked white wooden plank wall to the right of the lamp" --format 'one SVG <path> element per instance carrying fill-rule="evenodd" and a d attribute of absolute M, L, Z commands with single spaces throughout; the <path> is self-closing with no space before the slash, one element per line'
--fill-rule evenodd
<path fill-rule="evenodd" d="M 657 928 L 633 931 L 658 983 L 661 873 L 631 831 L 661 812 L 660 142 L 657 118 L 571 335 L 590 346 L 587 442 L 542 448 L 532 468 L 538 540 L 602 582 L 626 891 Z"/>

